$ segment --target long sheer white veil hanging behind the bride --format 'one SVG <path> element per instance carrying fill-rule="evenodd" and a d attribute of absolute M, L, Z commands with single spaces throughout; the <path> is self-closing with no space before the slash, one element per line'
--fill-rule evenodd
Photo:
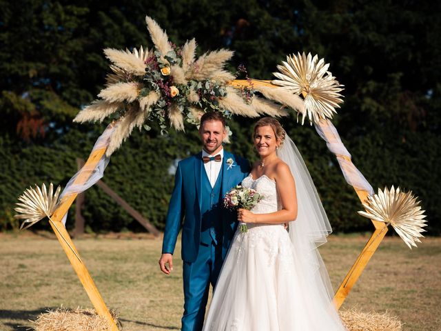
<path fill-rule="evenodd" d="M 287 135 L 277 150 L 277 155 L 291 170 L 296 182 L 298 214 L 294 221 L 289 222 L 289 237 L 294 246 L 298 279 L 305 292 L 305 304 L 311 311 L 323 308 L 322 314 L 329 314 L 340 323 L 338 313 L 332 303 L 333 290 L 325 264 L 318 247 L 327 242 L 331 233 L 331 225 L 323 209 L 314 182 L 306 168 L 300 152 Z"/>

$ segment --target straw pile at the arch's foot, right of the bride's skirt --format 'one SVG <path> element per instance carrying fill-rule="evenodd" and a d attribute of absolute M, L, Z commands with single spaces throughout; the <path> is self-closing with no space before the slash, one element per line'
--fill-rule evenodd
<path fill-rule="evenodd" d="M 361 312 L 352 308 L 339 313 L 349 331 L 400 331 L 402 327 L 400 320 L 389 312 Z"/>

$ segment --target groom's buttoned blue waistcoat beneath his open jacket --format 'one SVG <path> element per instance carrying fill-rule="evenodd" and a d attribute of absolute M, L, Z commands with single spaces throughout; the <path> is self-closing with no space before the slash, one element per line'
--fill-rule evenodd
<path fill-rule="evenodd" d="M 222 171 L 212 188 L 205 169 L 202 170 L 201 194 L 206 197 L 201 203 L 201 243 L 206 245 L 214 242 L 217 245 L 222 240 L 222 201 L 220 187 L 222 185 Z"/>

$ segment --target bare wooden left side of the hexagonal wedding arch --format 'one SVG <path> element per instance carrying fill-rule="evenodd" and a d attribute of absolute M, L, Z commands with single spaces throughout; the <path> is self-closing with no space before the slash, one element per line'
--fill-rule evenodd
<path fill-rule="evenodd" d="M 106 148 L 94 150 L 90 154 L 90 157 L 85 165 L 88 165 L 91 169 L 94 169 L 96 163 L 98 163 L 101 157 L 103 157 L 105 150 Z M 84 172 L 76 178 L 75 183 L 84 183 L 89 177 L 90 172 Z M 61 223 L 61 219 L 63 219 L 64 214 L 68 212 L 70 205 L 72 205 L 75 198 L 76 194 L 71 194 L 68 197 L 65 197 L 63 201 L 61 201 L 61 204 L 59 205 L 57 210 L 55 210 L 54 214 L 52 214 L 50 225 L 52 226 L 52 229 L 54 230 L 55 235 L 57 236 L 57 239 L 61 244 L 61 247 L 67 255 L 70 264 L 72 265 L 72 268 L 74 268 L 76 274 L 81 281 L 81 284 L 83 284 L 85 292 L 87 292 L 90 301 L 92 301 L 96 312 L 100 316 L 105 317 L 107 321 L 109 321 L 109 325 L 112 331 L 118 331 L 118 327 L 116 326 L 112 315 L 107 309 L 107 306 L 105 305 L 101 294 L 99 294 L 99 291 L 96 288 L 92 277 L 90 277 L 88 269 L 85 268 L 83 261 L 81 261 L 81 258 L 79 258 L 79 253 L 76 250 L 72 239 L 70 239 L 68 231 L 65 229 L 63 223 Z"/>

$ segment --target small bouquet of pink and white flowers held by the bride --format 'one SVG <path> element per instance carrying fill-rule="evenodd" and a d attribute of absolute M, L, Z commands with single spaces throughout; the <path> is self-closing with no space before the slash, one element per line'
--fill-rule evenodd
<path fill-rule="evenodd" d="M 240 208 L 251 210 L 262 199 L 263 195 L 256 190 L 236 185 L 235 188 L 232 188 L 232 190 L 225 194 L 223 204 L 225 205 L 225 208 L 230 210 L 238 210 Z M 247 232 L 247 224 L 240 223 L 239 230 L 240 232 Z"/>

